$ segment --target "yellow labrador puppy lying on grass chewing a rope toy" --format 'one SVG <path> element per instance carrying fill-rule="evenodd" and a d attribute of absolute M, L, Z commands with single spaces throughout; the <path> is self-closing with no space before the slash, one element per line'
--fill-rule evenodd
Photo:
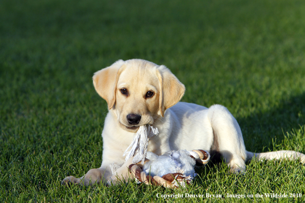
<path fill-rule="evenodd" d="M 220 105 L 206 108 L 179 102 L 185 87 L 165 66 L 142 59 L 118 60 L 96 72 L 93 84 L 109 109 L 102 133 L 102 166 L 81 178 L 66 177 L 63 183 L 106 184 L 116 176 L 126 179 L 131 159 L 125 161 L 123 153 L 139 127 L 146 124 L 159 130 L 148 144 L 148 151 L 158 155 L 179 149 L 219 152 L 236 172 L 244 171 L 245 160 L 252 157 L 299 159 L 304 163 L 305 155 L 294 151 L 247 152 L 232 114 Z M 118 168 L 115 175 L 109 165 Z"/>

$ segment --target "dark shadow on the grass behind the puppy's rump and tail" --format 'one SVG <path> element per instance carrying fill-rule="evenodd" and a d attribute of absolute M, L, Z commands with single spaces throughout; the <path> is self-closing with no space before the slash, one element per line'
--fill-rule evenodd
<path fill-rule="evenodd" d="M 273 140 L 278 143 L 284 139 L 284 133 L 299 129 L 305 124 L 305 93 L 282 100 L 270 111 L 258 112 L 237 120 L 247 151 L 274 150 Z"/>

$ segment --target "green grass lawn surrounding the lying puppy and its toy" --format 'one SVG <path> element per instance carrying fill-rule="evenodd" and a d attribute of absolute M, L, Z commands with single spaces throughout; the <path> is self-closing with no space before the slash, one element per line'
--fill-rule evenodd
<path fill-rule="evenodd" d="M 107 105 L 91 77 L 118 59 L 163 64 L 186 86 L 183 101 L 226 106 L 247 150 L 304 153 L 304 36 L 303 0 L 0 1 L 0 202 L 305 201 L 297 161 L 251 161 L 244 175 L 208 165 L 175 191 L 61 186 L 101 164 Z"/>

